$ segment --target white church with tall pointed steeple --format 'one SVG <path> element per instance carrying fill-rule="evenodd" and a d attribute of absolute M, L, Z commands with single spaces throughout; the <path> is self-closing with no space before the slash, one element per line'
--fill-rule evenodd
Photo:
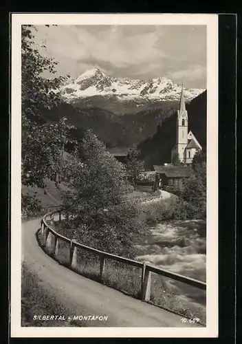
<path fill-rule="evenodd" d="M 201 144 L 192 131 L 188 133 L 188 112 L 186 111 L 182 86 L 179 109 L 177 110 L 177 142 L 171 151 L 171 161 L 173 161 L 174 155 L 177 155 L 183 164 L 191 164 L 197 150 L 201 150 Z"/>

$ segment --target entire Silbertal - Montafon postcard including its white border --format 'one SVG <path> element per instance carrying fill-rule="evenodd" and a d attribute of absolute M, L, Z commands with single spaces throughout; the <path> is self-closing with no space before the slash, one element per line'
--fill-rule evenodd
<path fill-rule="evenodd" d="M 11 21 L 11 336 L 218 336 L 217 15 Z"/>

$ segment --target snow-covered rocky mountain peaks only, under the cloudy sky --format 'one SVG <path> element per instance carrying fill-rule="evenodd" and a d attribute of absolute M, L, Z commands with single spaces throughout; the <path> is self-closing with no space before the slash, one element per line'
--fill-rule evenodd
<path fill-rule="evenodd" d="M 186 89 L 184 96 L 188 102 L 201 94 L 204 89 Z M 61 87 L 67 103 L 78 103 L 92 97 L 115 99 L 119 102 L 134 102 L 139 107 L 146 103 L 179 101 L 181 86 L 166 77 L 139 80 L 115 78 L 94 68 L 68 81 Z"/>

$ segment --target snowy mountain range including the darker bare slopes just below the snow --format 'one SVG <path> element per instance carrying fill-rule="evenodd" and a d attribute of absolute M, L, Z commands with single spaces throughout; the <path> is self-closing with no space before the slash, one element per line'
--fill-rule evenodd
<path fill-rule="evenodd" d="M 184 87 L 186 103 L 204 91 Z M 148 107 L 164 107 L 164 103 L 177 103 L 180 94 L 181 86 L 166 76 L 148 80 L 116 78 L 97 67 L 61 86 L 63 100 L 74 107 L 94 105 L 118 115 L 133 114 Z"/>

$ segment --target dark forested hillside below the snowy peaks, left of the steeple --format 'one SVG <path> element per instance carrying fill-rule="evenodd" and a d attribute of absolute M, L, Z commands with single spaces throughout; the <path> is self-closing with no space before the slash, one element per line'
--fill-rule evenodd
<path fill-rule="evenodd" d="M 177 107 L 177 102 L 170 102 L 164 103 L 164 107 L 118 116 L 100 107 L 78 108 L 62 103 L 50 111 L 45 109 L 42 116 L 47 122 L 56 122 L 66 117 L 79 129 L 80 137 L 83 136 L 83 131 L 93 129 L 108 147 L 130 147 L 153 136 L 158 123 L 173 114 Z"/>

